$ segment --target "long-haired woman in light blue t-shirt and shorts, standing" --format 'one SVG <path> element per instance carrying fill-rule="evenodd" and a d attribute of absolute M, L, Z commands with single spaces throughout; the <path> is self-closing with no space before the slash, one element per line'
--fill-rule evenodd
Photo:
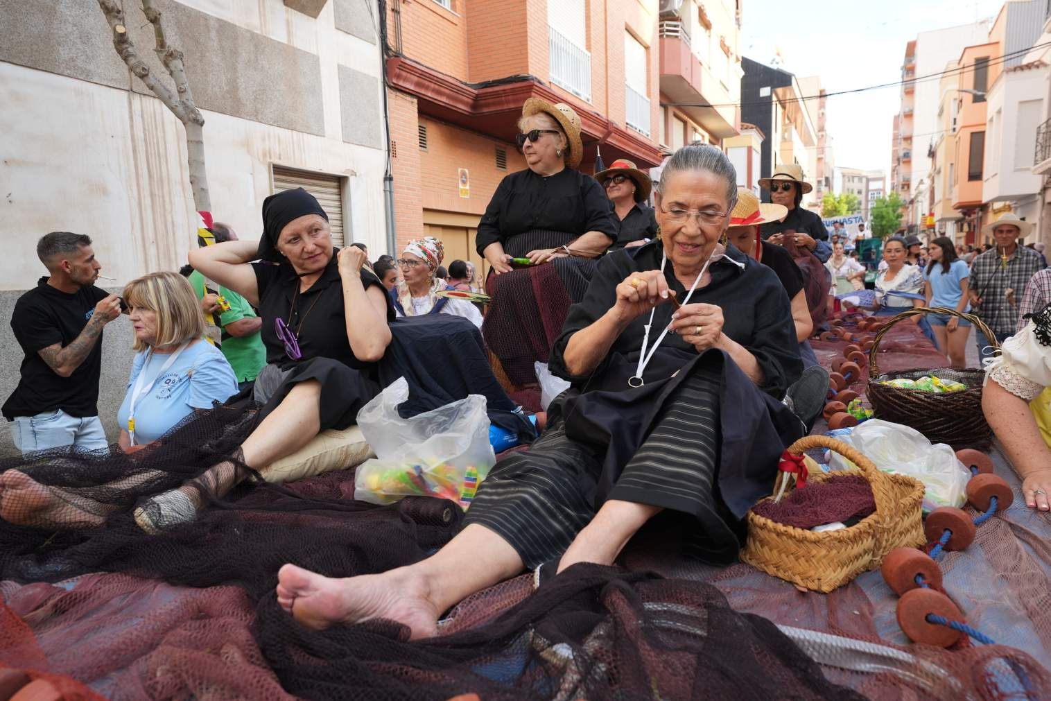
<path fill-rule="evenodd" d="M 924 270 L 924 296 L 928 307 L 944 307 L 965 312 L 968 309 L 967 264 L 956 256 L 956 249 L 948 236 L 939 236 L 928 250 L 930 263 Z M 937 347 L 949 355 L 953 368 L 967 367 L 967 337 L 971 323 L 949 314 L 928 314 Z"/>

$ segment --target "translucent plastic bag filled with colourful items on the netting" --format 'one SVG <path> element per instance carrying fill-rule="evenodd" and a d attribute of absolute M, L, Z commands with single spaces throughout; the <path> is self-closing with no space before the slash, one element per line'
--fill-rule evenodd
<path fill-rule="evenodd" d="M 412 418 L 397 407 L 409 398 L 404 377 L 357 413 L 375 458 L 354 475 L 354 498 L 392 503 L 405 496 L 436 496 L 465 509 L 496 461 L 489 442 L 486 397 L 472 394 Z"/>

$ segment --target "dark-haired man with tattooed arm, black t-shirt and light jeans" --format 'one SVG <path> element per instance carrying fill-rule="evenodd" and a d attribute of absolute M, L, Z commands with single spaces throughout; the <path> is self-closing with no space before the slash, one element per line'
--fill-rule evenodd
<path fill-rule="evenodd" d="M 45 234 L 37 256 L 50 275 L 15 304 L 11 327 L 25 358 L 4 418 L 23 454 L 105 449 L 97 407 L 102 328 L 120 315 L 120 297 L 95 286 L 102 266 L 84 234 Z"/>

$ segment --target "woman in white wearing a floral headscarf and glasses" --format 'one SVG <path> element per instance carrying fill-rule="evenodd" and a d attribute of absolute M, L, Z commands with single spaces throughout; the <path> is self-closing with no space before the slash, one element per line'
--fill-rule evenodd
<path fill-rule="evenodd" d="M 473 304 L 467 300 L 437 295 L 442 290 L 452 289 L 445 280 L 434 274 L 444 255 L 445 247 L 434 236 L 409 242 L 397 261 L 401 280 L 391 290 L 394 309 L 398 316 L 439 313 L 462 316 L 480 329 L 481 313 Z"/>

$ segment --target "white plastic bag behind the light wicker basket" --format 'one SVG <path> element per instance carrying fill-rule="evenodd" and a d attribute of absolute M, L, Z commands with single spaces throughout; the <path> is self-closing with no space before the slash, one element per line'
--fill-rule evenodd
<path fill-rule="evenodd" d="M 841 438 L 872 460 L 880 470 L 915 477 L 927 488 L 923 510 L 937 507 L 961 507 L 966 499 L 967 480 L 971 474 L 945 444 L 930 444 L 913 428 L 879 418 L 862 421 L 850 435 Z M 853 466 L 832 452 L 829 465 L 833 470 Z"/>

